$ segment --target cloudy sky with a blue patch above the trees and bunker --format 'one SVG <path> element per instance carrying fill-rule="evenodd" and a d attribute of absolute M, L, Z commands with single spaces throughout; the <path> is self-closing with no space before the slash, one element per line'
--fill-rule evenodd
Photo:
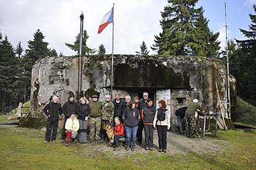
<path fill-rule="evenodd" d="M 251 24 L 249 13 L 253 12 L 256 0 L 200 0 L 197 7 L 203 6 L 204 15 L 209 19 L 209 27 L 215 33 L 220 32 L 221 47 L 225 46 L 225 10 L 227 2 L 228 38 L 244 39 L 239 28 L 248 30 Z M 102 17 L 115 3 L 115 45 L 114 54 L 135 54 L 140 51 L 142 41 L 150 46 L 154 35 L 159 35 L 161 26 L 160 12 L 163 12 L 167 0 L 0 0 L 0 29 L 7 35 L 13 47 L 19 41 L 24 49 L 28 41 L 33 40 L 36 29 L 40 29 L 49 47 L 58 54 L 76 55 L 66 45 L 73 43 L 80 29 L 79 16 L 84 13 L 84 29 L 89 39 L 88 47 L 99 49 L 101 43 L 106 53 L 111 53 L 112 24 L 97 34 Z"/>

